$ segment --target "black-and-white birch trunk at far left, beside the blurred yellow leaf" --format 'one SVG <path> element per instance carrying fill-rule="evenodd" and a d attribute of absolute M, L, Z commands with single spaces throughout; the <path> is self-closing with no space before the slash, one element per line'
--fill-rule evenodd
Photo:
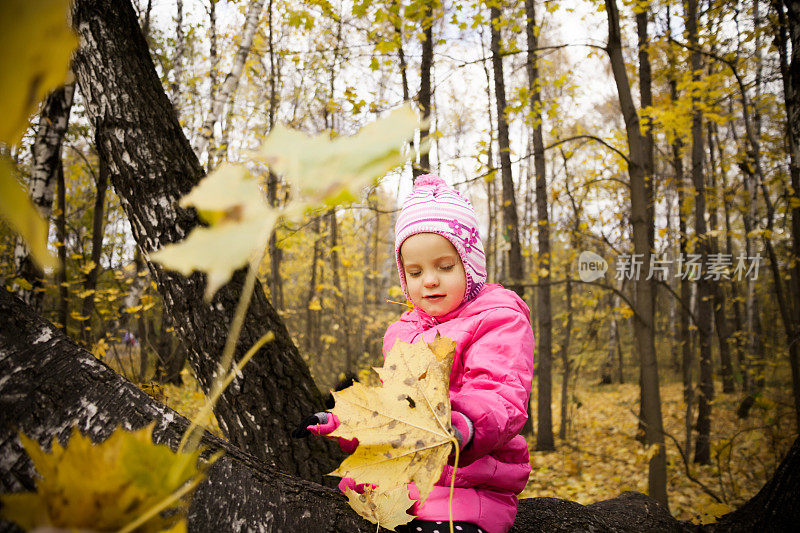
<path fill-rule="evenodd" d="M 53 210 L 58 167 L 61 165 L 61 145 L 69 125 L 74 94 L 75 83 L 50 93 L 42 105 L 39 129 L 31 146 L 33 161 L 28 190 L 31 200 L 47 222 L 50 221 Z M 35 309 L 39 309 L 44 292 L 36 289 L 42 287 L 43 272 L 33 262 L 22 239 L 17 239 L 14 249 L 14 270 L 32 286 L 30 290 L 20 288 L 17 294 Z"/>

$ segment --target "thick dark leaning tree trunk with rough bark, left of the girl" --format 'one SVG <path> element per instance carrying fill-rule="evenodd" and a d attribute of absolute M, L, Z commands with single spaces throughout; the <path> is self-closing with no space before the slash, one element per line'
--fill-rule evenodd
<path fill-rule="evenodd" d="M 203 170 L 164 94 L 130 2 L 78 0 L 72 20 L 81 34 L 75 71 L 98 152 L 109 162 L 112 184 L 147 256 L 182 240 L 199 224 L 194 210 L 177 204 Z M 217 361 L 245 273 L 237 272 L 206 303 L 202 274 L 186 278 L 150 261 L 148 267 L 189 362 L 208 391 L 220 372 Z M 289 432 L 298 420 L 320 410 L 323 399 L 258 285 L 236 347 L 237 359 L 267 331 L 274 332 L 275 341 L 259 350 L 222 395 L 217 420 L 232 444 L 287 472 L 321 480 L 333 468 L 338 450 L 322 440 L 291 442 Z"/>

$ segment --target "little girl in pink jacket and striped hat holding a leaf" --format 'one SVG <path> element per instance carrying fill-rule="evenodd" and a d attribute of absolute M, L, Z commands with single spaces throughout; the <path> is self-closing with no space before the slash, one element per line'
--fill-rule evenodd
<path fill-rule="evenodd" d="M 398 339 L 432 342 L 438 333 L 455 341 L 449 390 L 451 422 L 461 443 L 455 530 L 504 533 L 514 523 L 516 495 L 531 471 L 527 442 L 518 434 L 528 416 L 533 371 L 530 311 L 514 292 L 486 283 L 475 211 L 441 178 L 416 179 L 395 234 L 400 285 L 414 307 L 386 330 L 384 353 Z M 316 434 L 338 426 L 328 413 L 314 421 L 320 423 L 308 430 Z M 354 445 L 344 442 L 342 448 L 352 452 Z M 425 503 L 412 508 L 416 518 L 398 531 L 446 531 L 452 475 L 446 465 Z M 339 486 L 352 488 L 353 480 Z M 418 499 L 413 484 L 409 493 Z"/>

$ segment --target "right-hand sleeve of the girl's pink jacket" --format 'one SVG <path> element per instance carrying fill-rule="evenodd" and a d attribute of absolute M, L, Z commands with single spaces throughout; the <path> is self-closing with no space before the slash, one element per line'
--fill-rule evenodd
<path fill-rule="evenodd" d="M 461 387 L 451 392 L 454 411 L 469 417 L 474 435 L 461 452 L 467 465 L 519 433 L 528 418 L 533 380 L 533 331 L 522 312 L 486 313 L 462 353 Z"/>

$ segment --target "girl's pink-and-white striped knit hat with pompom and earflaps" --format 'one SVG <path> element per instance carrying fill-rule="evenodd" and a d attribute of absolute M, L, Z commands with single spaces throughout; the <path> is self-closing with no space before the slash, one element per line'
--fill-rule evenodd
<path fill-rule="evenodd" d="M 475 210 L 464 195 L 439 176 L 425 174 L 414 181 L 414 191 L 403 203 L 394 233 L 394 255 L 406 298 L 408 288 L 400 259 L 400 246 L 417 233 L 438 233 L 455 246 L 467 275 L 464 301 L 477 296 L 483 288 L 486 282 L 486 256 L 478 233 Z"/>

